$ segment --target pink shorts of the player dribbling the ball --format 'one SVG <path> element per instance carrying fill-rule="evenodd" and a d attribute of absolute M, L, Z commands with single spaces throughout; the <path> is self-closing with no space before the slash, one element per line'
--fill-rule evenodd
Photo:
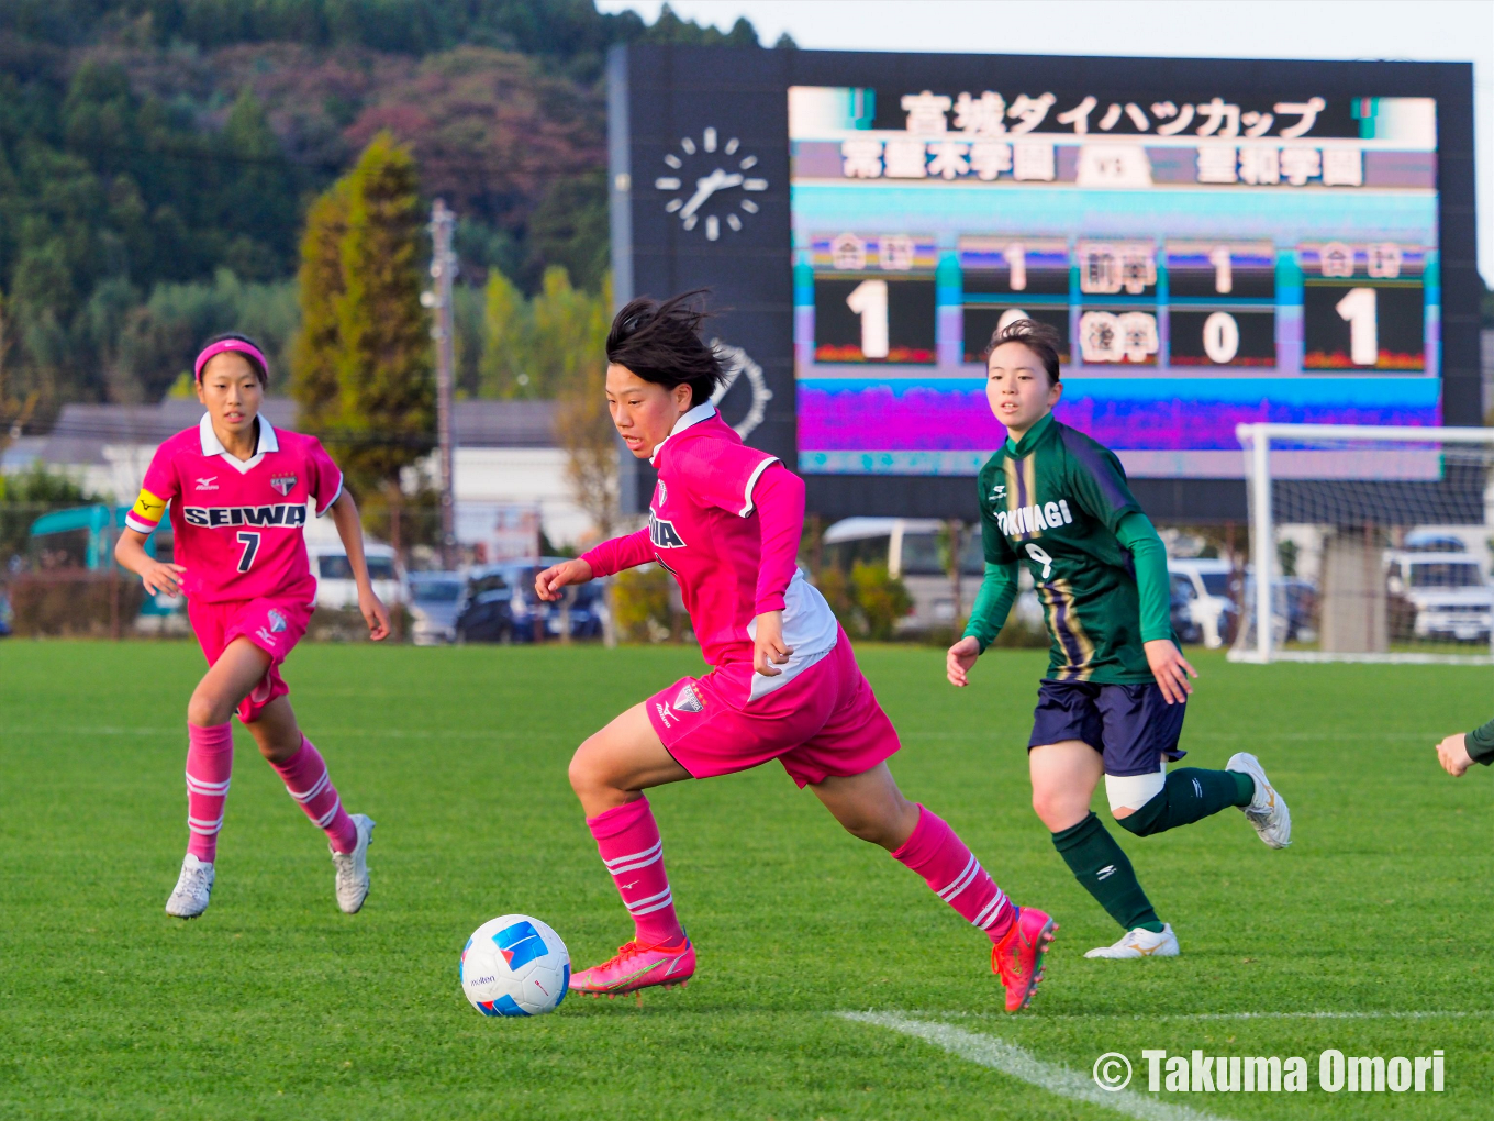
<path fill-rule="evenodd" d="M 777 759 L 804 786 L 870 771 L 902 746 L 844 631 L 834 650 L 756 701 L 747 700 L 751 677 L 751 665 L 737 662 L 648 698 L 648 720 L 692 777 Z"/>

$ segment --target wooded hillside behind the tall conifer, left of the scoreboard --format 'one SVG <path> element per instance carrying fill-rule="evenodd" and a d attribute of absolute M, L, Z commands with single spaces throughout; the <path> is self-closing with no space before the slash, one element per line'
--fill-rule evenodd
<path fill-rule="evenodd" d="M 0 4 L 0 421 L 157 401 L 221 330 L 285 371 L 306 218 L 381 133 L 462 217 L 460 390 L 553 395 L 548 324 L 608 269 L 601 61 L 635 40 L 757 45 L 590 0 Z"/>

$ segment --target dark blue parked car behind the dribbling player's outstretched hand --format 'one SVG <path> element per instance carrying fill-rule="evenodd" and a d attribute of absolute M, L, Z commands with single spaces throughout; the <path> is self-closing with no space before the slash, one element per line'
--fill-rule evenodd
<path fill-rule="evenodd" d="M 560 638 L 569 617 L 572 638 L 602 634 L 602 581 L 566 589 L 562 599 L 547 604 L 535 595 L 535 575 L 563 556 L 503 560 L 474 568 L 457 605 L 459 643 L 541 643 Z"/>

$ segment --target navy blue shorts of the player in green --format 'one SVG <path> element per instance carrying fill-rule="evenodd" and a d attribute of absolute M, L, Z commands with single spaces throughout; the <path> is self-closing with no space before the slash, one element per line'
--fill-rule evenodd
<path fill-rule="evenodd" d="M 1162 756 L 1182 759 L 1186 702 L 1168 704 L 1156 682 L 1097 685 L 1052 682 L 1037 688 L 1028 750 L 1064 740 L 1083 740 L 1104 756 L 1106 774 L 1155 774 Z"/>

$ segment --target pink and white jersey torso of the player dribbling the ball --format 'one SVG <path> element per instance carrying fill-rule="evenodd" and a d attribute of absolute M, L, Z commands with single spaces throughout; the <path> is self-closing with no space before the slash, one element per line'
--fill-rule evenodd
<path fill-rule="evenodd" d="M 762 563 L 753 489 L 777 462 L 744 445 L 713 405 L 686 413 L 654 448 L 659 484 L 648 507 L 648 540 L 654 559 L 680 583 L 710 665 L 751 662 Z M 795 665 L 780 677 L 763 677 L 754 691 L 786 685 L 799 665 L 835 646 L 837 623 L 823 596 L 799 572 L 790 572 L 781 589 L 783 635 L 795 647 Z"/>

